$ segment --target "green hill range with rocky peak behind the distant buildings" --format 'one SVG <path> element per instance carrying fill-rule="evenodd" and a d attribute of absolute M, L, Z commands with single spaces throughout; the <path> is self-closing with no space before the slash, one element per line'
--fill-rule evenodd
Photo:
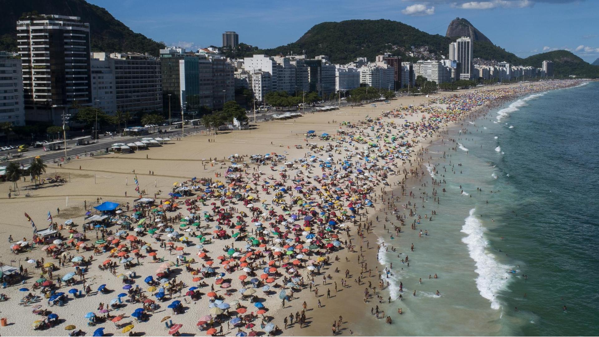
<path fill-rule="evenodd" d="M 464 21 L 470 25 L 467 20 L 460 20 L 460 22 Z M 541 53 L 522 59 L 495 46 L 480 31 L 476 30 L 476 33 L 482 40 L 474 41 L 475 58 L 507 61 L 513 65 L 534 67 L 541 67 L 544 60 L 551 60 L 555 76 L 599 77 L 599 70 L 595 70 L 595 67 L 591 67 L 587 62 L 566 50 Z M 331 62 L 345 64 L 359 57 L 374 60 L 377 55 L 387 52 L 401 56 L 406 61 L 414 62 L 418 59 L 429 59 L 430 55 L 437 59 L 440 58 L 440 55 L 447 55 L 449 43 L 455 39 L 456 37 L 428 34 L 392 20 L 347 20 L 319 23 L 294 43 L 252 53 L 264 53 L 271 56 L 305 53 L 308 57 L 327 55 L 331 58 Z M 412 47 L 418 49 L 424 46 L 428 46 L 428 55 L 420 52 L 419 57 L 409 56 L 409 53 L 413 51 Z"/>

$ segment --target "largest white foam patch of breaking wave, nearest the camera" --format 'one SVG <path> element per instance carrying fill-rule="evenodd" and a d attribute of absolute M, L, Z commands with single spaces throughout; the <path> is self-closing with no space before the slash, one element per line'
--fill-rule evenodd
<path fill-rule="evenodd" d="M 474 209 L 470 210 L 470 215 L 465 219 L 461 231 L 468 235 L 462 239 L 462 242 L 468 246 L 470 257 L 476 264 L 474 271 L 479 274 L 476 278 L 476 287 L 479 289 L 480 296 L 491 301 L 492 309 L 499 309 L 501 305 L 495 297 L 508 281 L 506 270 L 509 267 L 498 263 L 494 255 L 486 252 L 488 242 L 484 236 L 485 228 L 474 216 Z"/>

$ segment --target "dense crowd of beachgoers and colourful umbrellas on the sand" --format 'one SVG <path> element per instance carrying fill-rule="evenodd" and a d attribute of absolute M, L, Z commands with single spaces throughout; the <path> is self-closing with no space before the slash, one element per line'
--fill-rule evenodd
<path fill-rule="evenodd" d="M 108 207 L 98 197 L 92 207 L 86 201 L 86 217 L 96 218 L 84 225 L 55 224 L 51 242 L 40 237 L 11 242 L 11 251 L 31 267 L 20 270 L 18 284 L 4 284 L 2 298 L 17 302 L 12 297 L 19 291 L 28 293 L 18 304 L 40 318 L 32 323 L 34 330 L 62 327 L 78 335 L 94 329 L 93 335 L 101 336 L 199 329 L 207 335 L 256 336 L 309 327 L 338 285 L 356 286 L 364 287 L 365 303 L 379 302 L 371 314 L 394 324 L 392 313 L 402 315 L 403 309 L 385 312 L 379 305 L 395 305 L 403 289 L 398 298 L 383 295 L 393 266 L 379 268 L 372 261 L 383 249 L 396 248 L 368 251 L 374 248 L 373 233 L 394 239 L 408 222 L 419 236 L 428 236 L 418 225 L 432 221 L 435 210 L 403 198 L 413 197 L 406 180 L 424 176 L 423 146 L 473 112 L 567 85 L 543 82 L 432 98 L 425 105 L 338 123 L 334 135 L 308 130 L 302 157 L 283 151 L 210 158 L 218 167 L 214 178 L 173 182 L 168 193 L 140 194 L 132 205 Z M 413 116 L 419 120 L 410 122 Z M 137 177 L 135 183 L 139 188 Z M 409 257 L 402 262 L 409 266 Z M 301 309 L 287 315 L 290 303 L 299 302 Z M 71 303 L 84 312 L 69 310 Z M 159 312 L 164 318 L 155 316 Z M 183 317 L 193 315 L 196 323 L 190 326 Z M 337 335 L 347 322 L 334 316 L 332 335 Z M 148 330 L 157 321 L 164 323 L 164 332 Z"/>

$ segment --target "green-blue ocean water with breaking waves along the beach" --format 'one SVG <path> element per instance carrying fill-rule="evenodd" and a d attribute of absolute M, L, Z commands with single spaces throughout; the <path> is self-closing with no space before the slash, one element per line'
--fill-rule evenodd
<path fill-rule="evenodd" d="M 379 216 L 379 270 L 393 267 L 385 301 L 370 306 L 394 324 L 368 308 L 368 334 L 599 335 L 597 97 L 597 82 L 529 95 L 429 147 L 403 199 L 422 216 L 416 230 L 399 203 L 408 215 L 399 236 Z"/>

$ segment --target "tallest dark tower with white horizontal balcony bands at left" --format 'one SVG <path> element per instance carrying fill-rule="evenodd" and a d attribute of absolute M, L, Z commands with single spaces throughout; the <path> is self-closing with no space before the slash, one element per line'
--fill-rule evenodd
<path fill-rule="evenodd" d="M 26 119 L 61 124 L 75 102 L 92 103 L 89 23 L 35 15 L 17 21 Z"/>

